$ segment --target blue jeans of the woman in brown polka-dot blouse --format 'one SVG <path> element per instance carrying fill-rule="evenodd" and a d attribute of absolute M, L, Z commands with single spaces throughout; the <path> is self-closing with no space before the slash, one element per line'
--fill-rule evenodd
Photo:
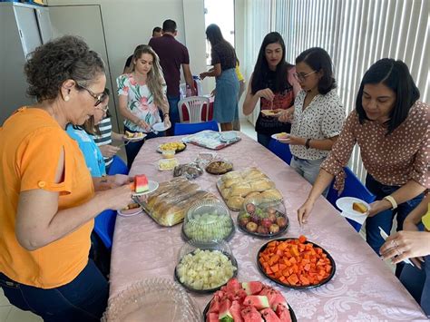
<path fill-rule="evenodd" d="M 400 186 L 387 186 L 375 180 L 370 174 L 366 176 L 366 187 L 367 189 L 376 195 L 376 200 L 382 200 L 384 197 L 392 194 L 394 191 L 398 190 Z M 389 235 L 391 228 L 393 227 L 393 220 L 397 214 L 397 231 L 403 229 L 403 222 L 406 216 L 415 209 L 418 203 L 424 198 L 424 193 L 419 194 L 412 200 L 408 200 L 397 206 L 396 210 L 384 210 L 376 214 L 374 217 L 368 217 L 366 219 L 366 241 L 372 249 L 375 250 L 376 254 L 379 255 L 379 249 L 382 244 L 384 244 L 384 239 L 382 239 L 379 234 L 378 227 L 381 227 Z M 400 275 L 402 265 L 397 265 L 396 276 Z"/>

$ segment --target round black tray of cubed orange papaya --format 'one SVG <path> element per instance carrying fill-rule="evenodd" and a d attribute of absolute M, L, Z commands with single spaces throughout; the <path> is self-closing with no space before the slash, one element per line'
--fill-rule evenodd
<path fill-rule="evenodd" d="M 259 265 L 269 278 L 291 287 L 318 285 L 333 270 L 327 253 L 308 242 L 305 236 L 270 241 L 259 252 Z"/>

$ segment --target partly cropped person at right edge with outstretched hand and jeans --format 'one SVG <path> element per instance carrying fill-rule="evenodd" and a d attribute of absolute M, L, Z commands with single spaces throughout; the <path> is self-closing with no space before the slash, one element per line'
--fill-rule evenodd
<path fill-rule="evenodd" d="M 400 281 L 430 317 L 430 194 L 406 217 L 403 230 L 386 239 L 381 255 L 394 264 L 414 262 L 405 265 Z"/>

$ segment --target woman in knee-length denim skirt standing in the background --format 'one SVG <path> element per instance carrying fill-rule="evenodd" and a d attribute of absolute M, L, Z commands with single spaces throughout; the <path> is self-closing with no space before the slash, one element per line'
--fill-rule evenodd
<path fill-rule="evenodd" d="M 239 117 L 239 81 L 235 72 L 236 52 L 224 39 L 217 24 L 210 24 L 206 28 L 206 36 L 210 42 L 213 68 L 209 72 L 200 73 L 200 78 L 203 80 L 205 77 L 215 77 L 213 118 L 220 123 L 221 131 L 231 131 L 234 119 Z"/>

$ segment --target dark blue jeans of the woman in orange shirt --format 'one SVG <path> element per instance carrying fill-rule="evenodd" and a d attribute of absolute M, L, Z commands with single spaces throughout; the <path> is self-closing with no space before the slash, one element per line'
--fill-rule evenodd
<path fill-rule="evenodd" d="M 12 305 L 44 321 L 100 321 L 107 306 L 109 286 L 93 260 L 70 283 L 58 288 L 34 288 L 0 273 L 0 286 Z"/>

